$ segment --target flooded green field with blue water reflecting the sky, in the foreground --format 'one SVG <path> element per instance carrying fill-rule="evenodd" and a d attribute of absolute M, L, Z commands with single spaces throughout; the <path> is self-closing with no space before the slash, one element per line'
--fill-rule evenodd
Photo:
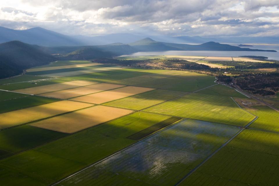
<path fill-rule="evenodd" d="M 152 185 L 175 185 L 237 133 L 238 127 L 185 120 L 68 178 L 68 185 L 107 185 L 122 175 Z M 96 171 L 99 169 L 99 171 Z M 107 172 L 111 175 L 107 177 Z M 102 178 L 107 179 L 103 180 Z M 124 185 L 124 180 L 115 185 Z"/>

